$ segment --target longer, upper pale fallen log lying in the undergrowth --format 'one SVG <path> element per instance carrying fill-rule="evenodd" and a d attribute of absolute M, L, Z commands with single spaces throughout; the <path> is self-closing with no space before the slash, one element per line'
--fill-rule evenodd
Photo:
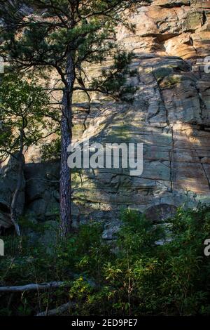
<path fill-rule="evenodd" d="M 26 284 L 20 286 L 0 286 L 0 292 L 23 292 L 23 291 L 36 291 L 36 290 L 45 290 L 45 289 L 57 289 L 70 286 L 68 282 L 49 282 L 41 284 Z"/>

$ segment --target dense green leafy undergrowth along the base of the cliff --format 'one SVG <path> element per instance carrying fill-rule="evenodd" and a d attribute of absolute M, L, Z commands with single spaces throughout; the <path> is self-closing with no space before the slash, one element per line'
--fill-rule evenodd
<path fill-rule="evenodd" d="M 180 208 L 164 225 L 153 225 L 137 211 L 122 213 L 123 226 L 111 244 L 102 226 L 81 225 L 51 253 L 6 239 L 0 264 L 1 285 L 63 280 L 71 288 L 1 297 L 1 315 L 36 313 L 67 301 L 71 315 L 209 315 L 210 262 L 204 240 L 210 237 L 210 208 Z M 166 239 L 170 237 L 170 239 Z M 156 242 L 165 244 L 156 244 Z M 8 307 L 9 306 L 9 307 Z"/>

